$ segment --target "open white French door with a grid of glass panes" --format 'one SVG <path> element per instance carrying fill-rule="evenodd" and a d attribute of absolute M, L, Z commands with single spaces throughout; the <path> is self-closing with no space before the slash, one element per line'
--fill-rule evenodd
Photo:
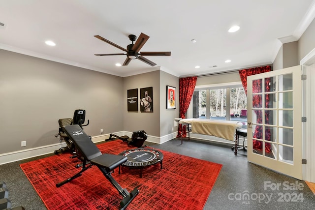
<path fill-rule="evenodd" d="M 302 180 L 301 70 L 301 66 L 293 66 L 247 78 L 248 161 L 299 180 Z"/>

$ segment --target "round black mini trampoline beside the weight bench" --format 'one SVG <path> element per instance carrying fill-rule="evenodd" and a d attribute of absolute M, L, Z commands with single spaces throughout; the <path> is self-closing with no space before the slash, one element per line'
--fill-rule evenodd
<path fill-rule="evenodd" d="M 142 169 L 146 166 L 151 166 L 160 163 L 161 169 L 163 168 L 162 166 L 163 154 L 162 152 L 155 149 L 137 148 L 132 150 L 125 150 L 119 153 L 119 155 L 123 155 L 128 158 L 128 160 L 125 163 L 123 163 L 122 166 L 140 169 L 140 178 L 142 178 Z"/>

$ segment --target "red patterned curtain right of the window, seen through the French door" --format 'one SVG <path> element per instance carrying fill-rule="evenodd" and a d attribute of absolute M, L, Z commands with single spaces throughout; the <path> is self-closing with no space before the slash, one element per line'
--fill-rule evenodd
<path fill-rule="evenodd" d="M 271 71 L 271 66 L 267 65 L 267 66 L 261 66 L 261 67 L 256 67 L 256 68 L 249 68 L 249 69 L 243 69 L 239 71 L 240 74 L 240 78 L 245 90 L 245 93 L 247 95 L 247 77 L 251 76 L 251 75 L 255 75 L 255 74 L 260 74 L 260 73 L 265 73 L 265 72 L 269 72 Z M 269 92 L 270 91 L 270 78 L 265 78 L 265 92 Z M 258 92 L 262 92 L 262 80 L 256 80 L 253 81 L 252 83 L 252 92 L 253 93 L 258 93 Z M 269 107 L 269 94 L 265 94 L 265 106 L 264 108 L 268 108 Z M 252 107 L 253 108 L 263 108 L 262 106 L 262 95 L 253 95 L 252 96 Z M 262 123 L 262 111 L 261 110 L 255 110 L 254 111 L 257 117 L 256 123 Z M 269 121 L 269 112 L 266 111 L 265 112 L 265 121 L 268 122 Z M 254 130 L 254 134 L 252 136 L 253 138 L 256 139 L 262 139 L 262 126 L 261 125 L 256 125 L 255 126 L 255 130 Z M 270 129 L 265 127 L 265 140 L 270 141 L 271 140 L 271 132 Z M 262 142 L 261 141 L 257 141 L 257 140 L 252 140 L 252 147 L 255 150 L 262 150 Z M 270 152 L 271 151 L 271 146 L 269 143 L 265 144 L 265 151 L 266 152 Z"/>

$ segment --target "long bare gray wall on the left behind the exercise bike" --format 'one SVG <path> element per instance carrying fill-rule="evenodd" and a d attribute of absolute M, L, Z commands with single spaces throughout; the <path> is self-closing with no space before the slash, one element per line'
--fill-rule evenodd
<path fill-rule="evenodd" d="M 123 130 L 123 78 L 5 50 L 0 63 L 0 154 L 58 143 L 58 120 L 80 108 L 89 135 Z"/>

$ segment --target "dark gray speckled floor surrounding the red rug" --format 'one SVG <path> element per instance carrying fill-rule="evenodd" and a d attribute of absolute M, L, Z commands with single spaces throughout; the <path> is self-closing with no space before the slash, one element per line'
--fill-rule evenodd
<path fill-rule="evenodd" d="M 304 181 L 247 162 L 246 151 L 239 150 L 235 156 L 230 147 L 194 140 L 184 141 L 183 145 L 179 139 L 161 145 L 145 144 L 223 165 L 204 210 L 315 209 L 315 195 Z M 49 155 L 0 165 L 0 181 L 7 185 L 12 207 L 46 210 L 19 164 Z"/>

